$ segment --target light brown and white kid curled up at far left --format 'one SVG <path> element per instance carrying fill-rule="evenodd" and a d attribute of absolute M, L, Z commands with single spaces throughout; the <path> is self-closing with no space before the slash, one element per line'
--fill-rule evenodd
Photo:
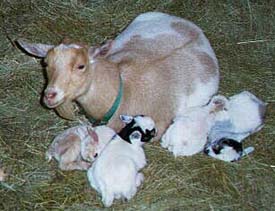
<path fill-rule="evenodd" d="M 69 128 L 54 138 L 46 158 L 49 161 L 55 158 L 62 170 L 87 170 L 105 141 L 114 134 L 114 130 L 106 126 Z"/>

